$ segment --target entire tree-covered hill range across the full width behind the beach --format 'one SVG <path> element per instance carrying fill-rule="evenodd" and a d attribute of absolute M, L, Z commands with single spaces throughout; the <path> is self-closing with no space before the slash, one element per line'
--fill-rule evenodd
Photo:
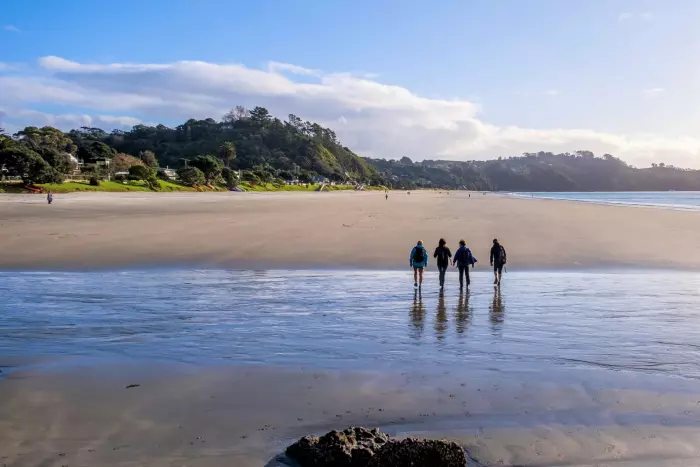
<path fill-rule="evenodd" d="M 609 154 L 596 157 L 589 151 L 467 162 L 413 162 L 401 154 L 362 158 L 343 146 L 333 130 L 295 115 L 282 121 L 262 107 L 250 111 L 236 107 L 220 121 L 190 119 L 175 128 L 136 125 L 130 131 L 107 133 L 83 127 L 63 133 L 51 127 L 27 127 L 12 137 L 0 131 L 3 173 L 21 176 L 27 183 L 64 179 L 72 170 L 68 153 L 87 164 L 113 159 L 109 167 L 120 170 L 134 164 L 177 169 L 191 161 L 206 172 L 207 182 L 223 177 L 231 186 L 236 184 L 234 171 L 222 170 L 224 166 L 242 170 L 252 180 L 309 181 L 320 175 L 399 189 L 700 190 L 698 170 L 664 164 L 639 169 Z M 95 175 L 106 174 L 96 171 Z"/>

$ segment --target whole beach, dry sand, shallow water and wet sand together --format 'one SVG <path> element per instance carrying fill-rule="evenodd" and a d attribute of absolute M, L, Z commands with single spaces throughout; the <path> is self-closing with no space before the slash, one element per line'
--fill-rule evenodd
<path fill-rule="evenodd" d="M 0 197 L 0 466 L 282 467 L 307 434 L 474 466 L 700 459 L 695 212 L 452 192 Z M 465 238 L 470 291 L 433 264 Z M 508 250 L 500 288 L 491 240 Z"/>

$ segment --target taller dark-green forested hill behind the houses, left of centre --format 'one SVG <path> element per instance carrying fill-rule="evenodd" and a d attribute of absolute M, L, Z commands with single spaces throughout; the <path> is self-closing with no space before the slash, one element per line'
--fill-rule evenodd
<path fill-rule="evenodd" d="M 342 146 L 333 130 L 295 115 L 282 121 L 262 107 L 250 111 L 237 107 L 221 121 L 190 119 L 175 128 L 136 125 L 130 131 L 111 133 L 82 128 L 68 136 L 78 146 L 82 159 L 95 156 L 90 149 L 97 141 L 134 156 L 151 151 L 163 167 L 178 168 L 186 159 L 212 155 L 234 169 L 265 171 L 282 177 L 305 173 L 338 181 L 379 181 L 372 167 Z"/>

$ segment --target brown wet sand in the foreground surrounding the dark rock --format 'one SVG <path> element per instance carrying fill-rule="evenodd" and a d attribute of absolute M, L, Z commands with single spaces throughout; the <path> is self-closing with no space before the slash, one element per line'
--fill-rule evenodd
<path fill-rule="evenodd" d="M 697 462 L 697 384 L 668 392 L 635 379 L 548 380 L 270 367 L 17 371 L 0 384 L 0 463 L 281 466 L 292 440 L 352 425 L 452 439 L 479 465 Z"/>

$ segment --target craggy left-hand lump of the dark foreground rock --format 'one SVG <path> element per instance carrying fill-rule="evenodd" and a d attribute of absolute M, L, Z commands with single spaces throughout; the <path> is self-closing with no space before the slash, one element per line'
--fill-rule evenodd
<path fill-rule="evenodd" d="M 389 441 L 377 429 L 357 427 L 333 430 L 323 436 L 304 436 L 286 450 L 301 467 L 366 467 Z"/>

